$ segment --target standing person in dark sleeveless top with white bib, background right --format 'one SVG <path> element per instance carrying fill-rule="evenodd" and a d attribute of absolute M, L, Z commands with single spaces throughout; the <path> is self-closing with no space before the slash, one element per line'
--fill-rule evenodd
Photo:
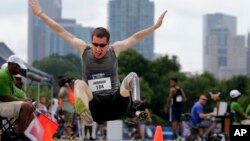
<path fill-rule="evenodd" d="M 186 101 L 186 99 L 186 94 L 178 85 L 177 78 L 171 78 L 169 95 L 166 100 L 164 111 L 166 113 L 169 113 L 169 121 L 172 122 L 172 129 L 175 138 L 182 134 L 182 105 L 183 102 Z"/>

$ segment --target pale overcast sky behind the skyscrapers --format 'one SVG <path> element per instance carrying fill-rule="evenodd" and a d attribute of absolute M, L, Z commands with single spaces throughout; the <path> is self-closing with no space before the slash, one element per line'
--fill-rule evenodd
<path fill-rule="evenodd" d="M 63 0 L 63 18 L 83 26 L 107 27 L 109 0 Z M 238 35 L 250 31 L 249 0 L 150 0 L 155 20 L 168 10 L 154 32 L 155 53 L 178 57 L 182 71 L 202 72 L 202 19 L 222 13 L 237 17 Z M 0 42 L 27 61 L 28 0 L 0 0 Z M 112 35 L 111 35 L 112 36 Z M 167 66 L 166 66 L 167 67 Z"/>

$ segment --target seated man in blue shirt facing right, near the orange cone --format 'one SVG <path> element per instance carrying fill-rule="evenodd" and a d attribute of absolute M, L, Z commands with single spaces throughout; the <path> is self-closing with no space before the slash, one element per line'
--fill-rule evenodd
<path fill-rule="evenodd" d="M 199 100 L 193 105 L 191 110 L 190 124 L 199 129 L 199 134 L 203 138 L 207 138 L 208 134 L 216 127 L 215 122 L 210 118 L 215 113 L 205 113 L 204 106 L 207 103 L 207 97 L 201 95 Z"/>

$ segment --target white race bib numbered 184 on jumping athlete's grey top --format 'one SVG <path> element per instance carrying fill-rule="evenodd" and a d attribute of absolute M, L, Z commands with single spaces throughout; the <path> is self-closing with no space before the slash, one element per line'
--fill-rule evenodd
<path fill-rule="evenodd" d="M 110 77 L 88 80 L 88 84 L 92 92 L 111 89 Z"/>

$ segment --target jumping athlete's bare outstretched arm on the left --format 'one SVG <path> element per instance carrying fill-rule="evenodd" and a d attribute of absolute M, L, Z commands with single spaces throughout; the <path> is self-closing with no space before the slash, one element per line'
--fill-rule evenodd
<path fill-rule="evenodd" d="M 41 18 L 41 20 L 43 20 L 59 37 L 77 49 L 80 54 L 83 53 L 84 49 L 86 48 L 85 41 L 75 37 L 73 34 L 66 31 L 56 21 L 43 13 L 38 0 L 29 0 L 29 4 L 32 8 L 32 12 Z"/>

